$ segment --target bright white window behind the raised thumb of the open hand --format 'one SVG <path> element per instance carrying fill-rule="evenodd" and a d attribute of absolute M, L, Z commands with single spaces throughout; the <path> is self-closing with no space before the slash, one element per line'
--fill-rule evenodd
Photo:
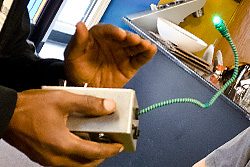
<path fill-rule="evenodd" d="M 68 43 L 79 21 L 83 21 L 90 29 L 100 21 L 109 3 L 110 0 L 68 0 L 55 22 L 49 40 Z"/>

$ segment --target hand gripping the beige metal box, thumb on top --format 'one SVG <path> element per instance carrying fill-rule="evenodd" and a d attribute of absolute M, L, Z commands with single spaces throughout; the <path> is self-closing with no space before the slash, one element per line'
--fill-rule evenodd
<path fill-rule="evenodd" d="M 3 139 L 44 166 L 97 166 L 122 151 L 123 146 L 83 140 L 69 132 L 66 120 L 73 112 L 101 116 L 114 109 L 113 100 L 59 90 L 24 91 L 18 93 Z"/>

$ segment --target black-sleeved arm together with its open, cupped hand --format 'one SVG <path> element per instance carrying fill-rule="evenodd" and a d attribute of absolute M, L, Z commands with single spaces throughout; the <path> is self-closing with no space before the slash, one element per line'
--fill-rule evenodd
<path fill-rule="evenodd" d="M 156 53 L 156 46 L 138 35 L 109 24 L 89 32 L 79 23 L 66 51 L 65 62 L 36 57 L 26 42 L 29 34 L 27 11 L 15 23 L 0 56 L 0 85 L 21 91 L 54 85 L 59 78 L 73 85 L 122 87 Z"/>

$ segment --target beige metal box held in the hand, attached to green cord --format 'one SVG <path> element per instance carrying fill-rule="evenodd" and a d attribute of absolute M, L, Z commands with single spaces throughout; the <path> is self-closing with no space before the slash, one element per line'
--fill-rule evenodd
<path fill-rule="evenodd" d="M 116 110 L 110 115 L 100 117 L 83 117 L 72 114 L 68 117 L 69 130 L 84 138 L 96 142 L 118 142 L 123 144 L 124 151 L 135 151 L 139 136 L 139 108 L 132 89 L 85 88 L 42 86 L 45 90 L 64 90 L 79 95 L 90 95 L 112 99 Z"/>

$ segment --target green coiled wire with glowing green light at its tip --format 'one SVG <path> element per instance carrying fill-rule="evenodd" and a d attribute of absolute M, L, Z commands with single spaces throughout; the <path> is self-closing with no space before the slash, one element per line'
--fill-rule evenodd
<path fill-rule="evenodd" d="M 228 32 L 228 29 L 225 25 L 225 22 L 219 17 L 219 16 L 215 16 L 214 19 L 213 19 L 213 22 L 214 22 L 214 26 L 215 28 L 221 33 L 221 35 L 223 37 L 225 37 L 227 39 L 227 41 L 229 42 L 233 52 L 234 52 L 234 65 L 235 65 L 235 68 L 234 68 L 234 73 L 232 75 L 232 77 L 222 86 L 222 88 L 217 92 L 215 93 L 215 95 L 211 98 L 211 100 L 208 102 L 208 103 L 205 103 L 203 104 L 202 102 L 196 100 L 196 99 L 192 99 L 192 98 L 177 98 L 177 99 L 171 99 L 171 100 L 166 100 L 166 101 L 163 101 L 163 102 L 159 102 L 159 103 L 156 103 L 156 104 L 153 104 L 147 108 L 144 108 L 142 110 L 140 110 L 140 115 L 141 114 L 144 114 L 144 113 L 147 113 L 155 108 L 159 108 L 159 107 L 163 107 L 163 106 L 166 106 L 166 105 L 169 105 L 169 104 L 173 104 L 173 103 L 193 103 L 201 108 L 208 108 L 209 106 L 211 106 L 215 100 L 225 91 L 225 89 L 231 85 L 233 83 L 233 81 L 237 78 L 237 75 L 238 75 L 238 68 L 239 68 L 239 57 L 238 57 L 238 53 L 237 53 L 237 49 L 230 37 L 230 34 Z"/>

